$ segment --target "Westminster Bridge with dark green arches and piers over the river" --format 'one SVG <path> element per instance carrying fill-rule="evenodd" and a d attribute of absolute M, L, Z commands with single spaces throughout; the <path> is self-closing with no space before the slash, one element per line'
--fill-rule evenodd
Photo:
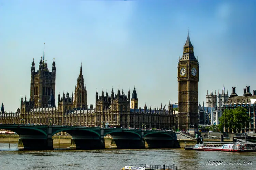
<path fill-rule="evenodd" d="M 20 124 L 0 124 L 0 129 L 17 133 L 19 145 L 28 150 L 52 150 L 52 136 L 58 132 L 69 133 L 76 149 L 105 149 L 107 134 L 113 137 L 118 149 L 142 149 L 145 141 L 148 148 L 179 148 L 176 133 L 165 130 Z"/>

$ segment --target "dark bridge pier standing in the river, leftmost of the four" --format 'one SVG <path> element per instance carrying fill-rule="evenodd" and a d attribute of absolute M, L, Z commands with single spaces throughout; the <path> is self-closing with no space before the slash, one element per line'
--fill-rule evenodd
<path fill-rule="evenodd" d="M 53 139 L 19 139 L 18 148 L 25 150 L 53 150 Z"/>

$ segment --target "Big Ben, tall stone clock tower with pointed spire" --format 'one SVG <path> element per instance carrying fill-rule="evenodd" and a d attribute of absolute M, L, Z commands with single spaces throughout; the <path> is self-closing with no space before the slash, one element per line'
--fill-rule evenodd
<path fill-rule="evenodd" d="M 178 64 L 178 128 L 180 130 L 198 127 L 198 81 L 199 65 L 188 34 Z"/>

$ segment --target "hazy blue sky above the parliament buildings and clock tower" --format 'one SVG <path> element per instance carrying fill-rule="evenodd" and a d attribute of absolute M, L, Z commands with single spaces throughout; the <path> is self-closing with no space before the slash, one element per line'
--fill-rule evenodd
<path fill-rule="evenodd" d="M 199 60 L 199 102 L 207 90 L 256 89 L 256 1 L 0 0 L 0 102 L 30 95 L 30 68 L 56 62 L 56 91 L 72 92 L 80 63 L 87 101 L 96 88 L 137 90 L 139 104 L 178 101 L 177 63 L 189 29 Z M 51 68 L 50 68 L 51 69 Z M 57 97 L 56 97 L 57 99 Z"/>

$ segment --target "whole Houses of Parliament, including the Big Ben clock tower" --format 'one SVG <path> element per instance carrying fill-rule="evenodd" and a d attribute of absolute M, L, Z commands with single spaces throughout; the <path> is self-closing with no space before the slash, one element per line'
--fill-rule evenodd
<path fill-rule="evenodd" d="M 183 47 L 183 55 L 178 64 L 178 109 L 175 114 L 172 102 L 159 108 L 138 105 L 137 92 L 134 87 L 131 95 L 122 89 L 95 94 L 95 107 L 87 104 L 87 90 L 82 74 L 82 63 L 74 92 L 67 91 L 58 95 L 55 102 L 55 59 L 48 68 L 47 61 L 41 57 L 38 70 L 35 71 L 34 59 L 31 64 L 30 97 L 20 100 L 20 109 L 15 113 L 6 113 L 1 107 L 0 123 L 73 125 L 104 127 L 105 125 L 122 128 L 157 128 L 187 130 L 191 125 L 198 125 L 198 81 L 199 65 L 194 56 L 189 34 Z M 55 104 L 57 103 L 57 104 Z"/>

